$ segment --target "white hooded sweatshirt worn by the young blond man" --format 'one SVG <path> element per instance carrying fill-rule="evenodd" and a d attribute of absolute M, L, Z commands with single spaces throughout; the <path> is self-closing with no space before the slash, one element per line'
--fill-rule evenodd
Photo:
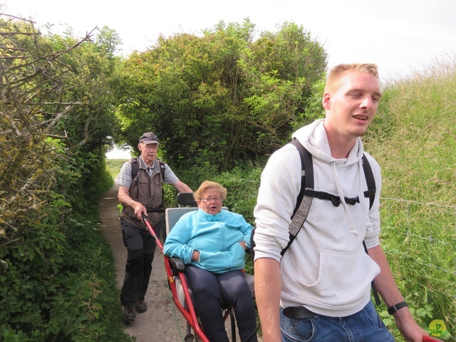
<path fill-rule="evenodd" d="M 293 145 L 274 152 L 261 174 L 257 206 L 255 259 L 273 258 L 281 263 L 281 307 L 304 305 L 316 314 L 343 317 L 363 309 L 371 295 L 371 281 L 380 267 L 368 257 L 368 248 L 379 244 L 380 167 L 368 157 L 375 177 L 375 201 L 369 210 L 368 190 L 361 158 L 361 139 L 348 158 L 334 159 L 323 119 L 297 130 L 297 138 L 314 164 L 314 190 L 341 197 L 359 197 L 360 203 L 334 207 L 331 201 L 314 198 L 309 215 L 291 247 L 289 224 L 301 189 L 301 160 Z"/>

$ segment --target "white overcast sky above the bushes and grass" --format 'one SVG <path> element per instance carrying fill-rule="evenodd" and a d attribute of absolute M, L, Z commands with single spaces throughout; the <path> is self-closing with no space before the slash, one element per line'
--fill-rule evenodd
<path fill-rule="evenodd" d="M 258 31 L 291 21 L 323 44 L 329 67 L 376 63 L 385 80 L 456 56 L 455 0 L 0 0 L 0 12 L 55 24 L 57 33 L 68 25 L 78 37 L 109 26 L 125 54 L 145 51 L 160 33 L 198 34 L 220 20 L 248 17 Z"/>

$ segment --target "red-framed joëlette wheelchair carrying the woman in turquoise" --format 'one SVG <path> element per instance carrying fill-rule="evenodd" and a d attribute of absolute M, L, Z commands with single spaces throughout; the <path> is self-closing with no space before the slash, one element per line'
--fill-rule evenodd
<path fill-rule="evenodd" d="M 170 232 L 172 227 L 175 226 L 175 224 L 180 219 L 180 217 L 182 217 L 183 214 L 198 209 L 198 207 L 196 207 L 197 203 L 195 202 L 195 199 L 193 198 L 193 194 L 191 192 L 179 193 L 177 195 L 177 203 L 179 204 L 179 207 L 165 209 L 166 233 L 163 234 L 164 240 L 166 239 L 166 235 Z M 222 209 L 227 210 L 228 208 L 222 207 Z M 155 211 L 156 209 L 152 210 Z M 163 209 L 160 209 L 160 212 L 162 211 Z M 142 219 L 145 223 L 145 226 L 147 227 L 147 230 L 155 238 L 155 242 L 157 243 L 157 246 L 160 248 L 160 251 L 163 254 L 163 244 L 160 242 L 160 239 L 157 237 L 157 234 L 155 234 L 152 225 L 150 224 L 149 220 L 144 214 L 142 215 Z M 172 299 L 175 302 L 175 306 L 177 306 L 177 309 L 179 309 L 179 311 L 184 316 L 185 321 L 187 321 L 187 335 L 185 336 L 184 341 L 191 342 L 200 340 L 202 342 L 210 342 L 204 335 L 202 326 L 199 323 L 197 311 L 195 309 L 194 302 L 192 301 L 192 290 L 190 289 L 190 286 L 184 274 L 184 262 L 181 259 L 175 257 L 167 257 L 165 254 L 163 254 L 163 261 L 165 263 L 167 283 L 172 293 Z M 249 284 L 252 298 L 255 298 L 254 276 L 252 276 L 251 274 L 247 274 L 245 272 L 244 276 L 247 280 L 247 284 Z M 222 314 L 225 320 L 227 320 L 228 318 L 230 319 L 231 341 L 236 342 L 237 335 L 236 320 L 234 318 L 234 309 L 231 306 L 223 305 Z M 255 333 L 257 332 L 257 330 L 255 331 Z"/>

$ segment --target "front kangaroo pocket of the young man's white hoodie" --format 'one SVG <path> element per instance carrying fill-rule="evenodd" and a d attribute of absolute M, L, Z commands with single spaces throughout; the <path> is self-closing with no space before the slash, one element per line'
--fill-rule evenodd
<path fill-rule="evenodd" d="M 301 295 L 328 308 L 349 308 L 366 299 L 378 273 L 380 267 L 363 249 L 354 253 L 322 250 L 318 279 L 314 284 L 300 282 Z"/>

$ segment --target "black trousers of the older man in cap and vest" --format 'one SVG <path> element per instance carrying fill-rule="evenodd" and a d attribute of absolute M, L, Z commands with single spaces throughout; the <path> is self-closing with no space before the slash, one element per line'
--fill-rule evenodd
<path fill-rule="evenodd" d="M 138 300 L 144 299 L 147 292 L 157 244 L 145 227 L 137 227 L 122 219 L 120 227 L 123 244 L 127 247 L 127 264 L 125 265 L 122 291 L 120 291 L 120 303 L 123 306 L 134 306 Z M 162 220 L 153 228 L 155 234 L 160 237 Z"/>

